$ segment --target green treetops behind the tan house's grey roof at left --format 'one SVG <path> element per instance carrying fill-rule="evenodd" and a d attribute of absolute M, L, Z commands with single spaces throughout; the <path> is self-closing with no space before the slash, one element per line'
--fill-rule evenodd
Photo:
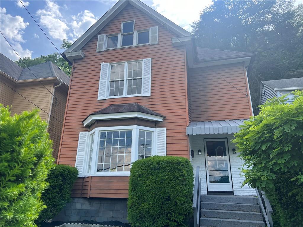
<path fill-rule="evenodd" d="M 61 48 L 62 49 L 67 49 L 72 45 L 71 42 L 67 41 L 67 39 L 64 39 L 62 41 L 62 45 Z M 57 65 L 58 67 L 60 67 L 62 69 L 62 71 L 65 72 L 66 75 L 70 76 L 71 72 L 72 72 L 72 66 L 68 64 L 68 62 L 61 57 L 61 55 L 58 52 L 55 52 L 53 54 L 48 54 L 46 56 L 41 55 L 41 57 L 37 57 L 37 58 L 29 58 L 29 57 L 25 57 L 19 59 L 18 61 L 15 61 L 16 64 L 20 65 L 22 68 L 25 68 L 26 66 L 30 67 L 33 65 L 37 65 L 37 64 L 41 64 L 47 61 L 52 61 L 52 63 L 54 63 L 55 65 Z M 23 63 L 25 62 L 25 64 Z"/>

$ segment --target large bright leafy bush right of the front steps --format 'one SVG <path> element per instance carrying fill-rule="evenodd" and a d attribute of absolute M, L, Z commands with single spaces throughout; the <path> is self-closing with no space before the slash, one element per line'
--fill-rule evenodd
<path fill-rule="evenodd" d="M 292 104 L 283 96 L 261 105 L 233 140 L 248 166 L 243 184 L 268 194 L 283 227 L 303 222 L 303 92 L 294 94 Z"/>

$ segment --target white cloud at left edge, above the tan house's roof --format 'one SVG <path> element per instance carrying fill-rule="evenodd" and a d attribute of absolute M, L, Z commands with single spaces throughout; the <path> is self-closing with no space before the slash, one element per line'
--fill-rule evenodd
<path fill-rule="evenodd" d="M 31 57 L 33 51 L 23 49 L 21 43 L 24 43 L 23 39 L 24 29 L 29 25 L 28 22 L 24 22 L 21 16 L 12 16 L 6 14 L 5 8 L 0 8 L 0 28 L 7 40 L 10 42 L 15 51 L 20 55 L 21 58 Z M 17 54 L 12 50 L 9 44 L 5 41 L 1 35 L 1 52 L 12 60 L 18 60 Z"/>

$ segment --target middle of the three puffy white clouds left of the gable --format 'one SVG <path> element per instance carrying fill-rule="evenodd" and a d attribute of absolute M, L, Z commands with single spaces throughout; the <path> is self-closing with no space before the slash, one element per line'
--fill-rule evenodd
<path fill-rule="evenodd" d="M 40 25 L 47 28 L 48 33 L 52 38 L 63 40 L 67 38 L 66 32 L 69 28 L 59 9 L 59 5 L 47 0 L 45 8 L 39 9 L 36 15 L 40 16 Z"/>

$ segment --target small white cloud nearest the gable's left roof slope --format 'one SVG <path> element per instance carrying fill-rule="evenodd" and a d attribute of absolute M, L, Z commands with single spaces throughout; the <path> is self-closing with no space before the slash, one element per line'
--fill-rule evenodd
<path fill-rule="evenodd" d="M 71 27 L 73 29 L 70 36 L 75 41 L 79 38 L 88 28 L 90 28 L 96 21 L 97 18 L 89 10 L 84 10 L 84 12 L 78 13 L 78 15 L 72 16 L 73 20 Z"/>

